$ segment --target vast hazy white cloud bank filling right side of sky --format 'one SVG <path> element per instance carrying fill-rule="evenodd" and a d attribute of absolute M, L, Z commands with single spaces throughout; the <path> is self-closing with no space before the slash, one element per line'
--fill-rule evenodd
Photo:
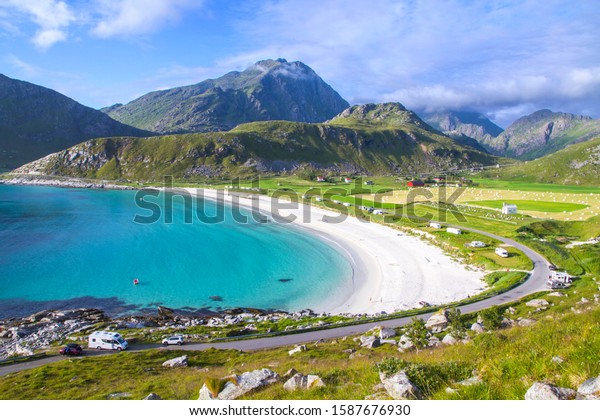
<path fill-rule="evenodd" d="M 229 61 L 302 60 L 351 103 L 503 116 L 593 109 L 597 118 L 600 9 L 592 3 L 274 0 L 239 26 L 256 49 Z"/>

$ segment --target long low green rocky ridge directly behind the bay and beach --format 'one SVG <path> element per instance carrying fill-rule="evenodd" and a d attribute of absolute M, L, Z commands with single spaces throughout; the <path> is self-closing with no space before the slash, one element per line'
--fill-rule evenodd
<path fill-rule="evenodd" d="M 227 132 L 90 140 L 18 172 L 132 180 L 413 175 L 496 160 L 432 130 L 400 104 L 381 104 L 354 106 L 321 124 L 254 122 Z"/>

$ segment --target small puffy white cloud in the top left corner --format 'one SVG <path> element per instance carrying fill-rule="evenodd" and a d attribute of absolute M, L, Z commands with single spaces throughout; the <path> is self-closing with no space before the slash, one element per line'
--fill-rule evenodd
<path fill-rule="evenodd" d="M 32 42 L 41 49 L 47 49 L 59 41 L 67 39 L 67 28 L 75 21 L 75 15 L 64 1 L 59 0 L 5 0 L 3 7 L 11 7 L 26 15 L 38 30 Z"/>

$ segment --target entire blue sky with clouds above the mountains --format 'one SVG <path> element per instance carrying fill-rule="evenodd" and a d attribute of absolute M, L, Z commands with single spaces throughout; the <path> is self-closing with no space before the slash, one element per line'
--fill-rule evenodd
<path fill-rule="evenodd" d="M 596 0 L 0 0 L 0 73 L 99 108 L 266 58 L 350 103 L 600 117 Z"/>

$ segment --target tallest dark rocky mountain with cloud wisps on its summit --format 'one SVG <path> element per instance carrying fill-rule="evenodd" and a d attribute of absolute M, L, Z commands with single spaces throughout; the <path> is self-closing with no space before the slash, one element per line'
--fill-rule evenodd
<path fill-rule="evenodd" d="M 267 120 L 325 121 L 348 107 L 310 67 L 284 59 L 259 61 L 191 86 L 148 93 L 102 111 L 158 133 L 226 131 Z"/>

